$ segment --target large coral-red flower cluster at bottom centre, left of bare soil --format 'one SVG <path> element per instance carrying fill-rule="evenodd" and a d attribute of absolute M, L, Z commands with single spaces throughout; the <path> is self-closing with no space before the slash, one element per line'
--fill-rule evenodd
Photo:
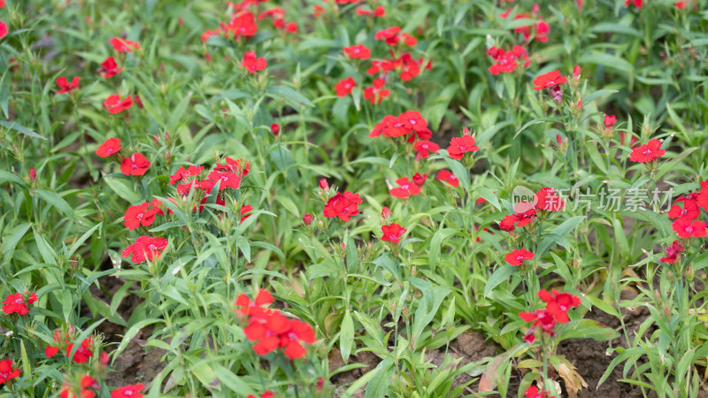
<path fill-rule="evenodd" d="M 307 344 L 315 342 L 312 327 L 298 319 L 286 317 L 279 310 L 264 307 L 271 302 L 273 296 L 263 289 L 258 292 L 254 302 L 247 295 L 238 296 L 237 313 L 248 318 L 243 333 L 249 341 L 256 341 L 253 350 L 259 356 L 284 348 L 283 353 L 289 359 L 302 358 L 307 351 L 300 341 Z"/>

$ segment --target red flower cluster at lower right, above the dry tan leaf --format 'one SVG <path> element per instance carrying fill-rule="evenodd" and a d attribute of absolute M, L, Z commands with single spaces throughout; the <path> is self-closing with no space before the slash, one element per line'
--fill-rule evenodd
<path fill-rule="evenodd" d="M 524 336 L 524 340 L 529 344 L 533 344 L 535 341 L 534 331 L 537 326 L 541 326 L 541 330 L 544 333 L 553 336 L 555 335 L 556 323 L 566 324 L 569 322 L 568 310 L 581 305 L 581 299 L 578 296 L 569 293 L 558 293 L 556 289 L 553 289 L 552 294 L 545 289 L 541 289 L 538 292 L 538 297 L 543 302 L 546 302 L 544 310 L 519 313 L 521 319 L 527 322 L 534 322 Z"/>

